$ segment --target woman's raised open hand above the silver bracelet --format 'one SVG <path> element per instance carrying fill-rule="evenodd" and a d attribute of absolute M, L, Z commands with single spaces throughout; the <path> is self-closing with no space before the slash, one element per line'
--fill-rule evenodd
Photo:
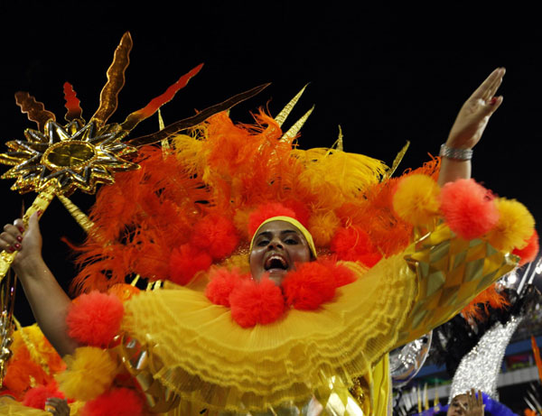
<path fill-rule="evenodd" d="M 465 101 L 450 130 L 446 146 L 454 149 L 472 149 L 480 141 L 491 115 L 502 104 L 502 96 L 495 97 L 495 93 L 500 87 L 504 73 L 504 68 L 493 70 Z"/>

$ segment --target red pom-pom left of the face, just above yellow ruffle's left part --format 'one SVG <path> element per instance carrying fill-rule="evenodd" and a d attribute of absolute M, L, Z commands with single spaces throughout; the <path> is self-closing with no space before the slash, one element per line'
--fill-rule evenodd
<path fill-rule="evenodd" d="M 181 245 L 174 249 L 169 262 L 170 280 L 177 284 L 186 284 L 194 274 L 207 270 L 212 263 L 209 253 L 201 251 L 192 245 Z"/>

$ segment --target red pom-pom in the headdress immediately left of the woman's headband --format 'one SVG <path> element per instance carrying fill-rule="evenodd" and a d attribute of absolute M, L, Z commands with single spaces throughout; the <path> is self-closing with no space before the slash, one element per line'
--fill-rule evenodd
<path fill-rule="evenodd" d="M 192 244 L 207 251 L 215 260 L 231 254 L 238 243 L 237 230 L 226 217 L 210 215 L 194 226 Z"/>

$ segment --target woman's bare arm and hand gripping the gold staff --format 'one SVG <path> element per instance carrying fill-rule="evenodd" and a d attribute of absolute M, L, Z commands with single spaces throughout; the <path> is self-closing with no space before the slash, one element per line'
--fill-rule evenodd
<path fill-rule="evenodd" d="M 17 251 L 14 272 L 23 285 L 34 318 L 61 356 L 71 354 L 78 347 L 77 342 L 68 336 L 66 327 L 71 300 L 43 261 L 37 215 L 30 218 L 26 230 L 22 219 L 4 226 L 4 232 L 0 235 L 0 250 Z"/>

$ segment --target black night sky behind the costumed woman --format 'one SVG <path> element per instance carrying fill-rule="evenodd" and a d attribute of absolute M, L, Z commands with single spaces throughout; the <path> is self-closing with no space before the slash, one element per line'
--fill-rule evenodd
<path fill-rule="evenodd" d="M 474 16 L 467 14 L 470 10 L 452 14 L 442 7 L 406 14 L 391 6 L 375 11 L 340 2 L 154 2 L 135 9 L 135 4 L 114 2 L 2 1 L 1 139 L 22 138 L 24 128 L 35 127 L 15 106 L 18 90 L 29 91 L 61 120 L 62 84 L 69 81 L 83 117 L 89 118 L 126 31 L 132 33 L 134 48 L 111 121 L 123 121 L 205 62 L 188 87 L 164 106 L 166 124 L 265 82 L 273 84 L 235 107 L 232 118 L 248 122 L 249 112 L 258 106 L 268 106 L 275 116 L 310 82 L 291 116 L 302 116 L 316 105 L 302 131 L 302 148 L 331 146 L 341 125 L 347 152 L 391 163 L 410 140 L 400 170 L 419 166 L 428 160 L 427 153 L 437 154 L 463 101 L 492 69 L 504 66 L 507 74 L 499 92 L 504 103 L 475 148 L 473 176 L 499 195 L 521 200 L 540 218 L 541 58 L 530 22 L 534 14 L 502 10 Z M 137 15 L 132 17 L 130 10 Z M 156 129 L 153 117 L 134 134 Z M 0 181 L 4 223 L 21 209 L 22 198 L 9 190 L 12 183 Z M 29 206 L 33 195 L 23 199 Z M 89 208 L 92 199 L 80 193 L 72 197 L 80 208 Z M 73 269 L 60 237 L 77 243 L 83 233 L 57 200 L 42 217 L 42 233 L 44 257 L 65 283 Z M 23 323 L 32 321 L 22 291 L 15 313 Z"/>

